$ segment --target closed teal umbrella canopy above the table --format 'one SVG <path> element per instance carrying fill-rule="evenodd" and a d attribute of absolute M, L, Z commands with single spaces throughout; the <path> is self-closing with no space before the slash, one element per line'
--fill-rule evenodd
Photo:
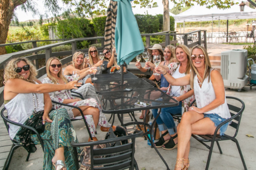
<path fill-rule="evenodd" d="M 145 47 L 130 0 L 114 0 L 118 2 L 115 25 L 115 48 L 118 65 L 129 64 Z"/>

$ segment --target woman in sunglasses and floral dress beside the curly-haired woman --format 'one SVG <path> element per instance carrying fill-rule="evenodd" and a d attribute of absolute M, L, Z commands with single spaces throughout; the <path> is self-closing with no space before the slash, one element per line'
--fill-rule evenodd
<path fill-rule="evenodd" d="M 53 65 L 61 65 L 61 62 L 57 57 L 51 57 L 47 61 L 46 63 L 47 77 L 44 78 L 43 83 L 66 84 L 73 80 L 72 76 L 62 75 L 62 66 L 58 68 L 58 67 L 53 67 Z M 92 74 L 93 69 L 96 69 L 96 67 L 90 68 L 89 70 L 86 71 L 86 73 Z M 82 77 L 79 77 L 79 79 L 82 79 Z M 101 126 L 100 130 L 102 130 L 103 132 L 108 131 L 109 127 L 111 126 L 107 118 L 105 117 L 105 115 L 101 112 L 101 108 L 95 98 L 89 98 L 85 100 L 77 99 L 71 95 L 70 90 L 50 92 L 49 95 L 51 97 L 51 100 L 80 107 L 84 115 L 92 115 L 94 125 L 92 127 L 90 125 L 89 127 L 90 127 L 93 140 L 97 140 L 97 138 L 95 137 L 95 128 L 97 128 L 97 125 Z M 79 110 L 75 108 L 72 109 L 71 107 L 56 105 L 56 104 L 54 104 L 54 108 L 67 109 L 70 118 L 81 116 L 81 113 L 79 112 Z M 87 116 L 87 118 L 89 117 L 90 116 Z M 88 119 L 88 122 L 91 122 L 91 121 Z M 88 141 L 90 141 L 90 139 Z"/>

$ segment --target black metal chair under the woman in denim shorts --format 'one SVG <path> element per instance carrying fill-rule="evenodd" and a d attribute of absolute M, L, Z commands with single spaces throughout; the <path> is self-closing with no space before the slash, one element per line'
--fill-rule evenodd
<path fill-rule="evenodd" d="M 239 125 L 240 125 L 240 122 L 241 122 L 241 117 L 242 117 L 242 113 L 243 113 L 245 105 L 244 105 L 242 100 L 240 100 L 240 99 L 238 99 L 236 97 L 226 96 L 226 99 L 236 100 L 236 101 L 240 102 L 242 106 L 238 107 L 237 105 L 234 106 L 234 105 L 228 104 L 228 108 L 230 110 L 230 114 L 231 114 L 232 117 L 230 117 L 229 119 L 227 119 L 224 122 L 220 123 L 220 125 L 217 126 L 217 128 L 216 128 L 216 130 L 214 132 L 214 135 L 193 135 L 192 134 L 193 138 L 198 140 L 200 143 L 205 145 L 206 148 L 208 148 L 210 150 L 205 170 L 208 170 L 209 165 L 210 165 L 210 160 L 211 160 L 211 155 L 212 155 L 212 149 L 213 149 L 214 142 L 217 143 L 217 146 L 218 146 L 218 149 L 220 151 L 220 154 L 222 154 L 222 151 L 221 151 L 221 148 L 220 148 L 220 144 L 219 144 L 219 141 L 222 141 L 222 140 L 232 140 L 233 142 L 236 143 L 236 146 L 238 148 L 238 152 L 240 154 L 240 157 L 241 157 L 241 160 L 242 160 L 242 163 L 243 163 L 243 167 L 244 167 L 245 170 L 247 170 L 246 163 L 245 163 L 245 161 L 243 159 L 241 148 L 239 146 L 238 140 L 236 139 L 236 135 L 238 133 L 238 129 L 239 129 Z M 195 100 L 191 103 L 190 106 L 192 106 L 194 104 L 194 102 L 195 102 Z M 226 135 L 226 134 L 223 135 L 223 136 L 217 135 L 218 130 L 220 129 L 220 127 L 222 125 L 224 125 L 225 123 L 230 122 L 230 121 L 231 121 L 231 124 L 229 126 L 231 126 L 232 128 L 236 129 L 235 134 L 233 136 L 229 136 L 229 135 Z M 210 142 L 211 145 L 209 146 L 209 145 L 205 144 L 207 142 Z"/>

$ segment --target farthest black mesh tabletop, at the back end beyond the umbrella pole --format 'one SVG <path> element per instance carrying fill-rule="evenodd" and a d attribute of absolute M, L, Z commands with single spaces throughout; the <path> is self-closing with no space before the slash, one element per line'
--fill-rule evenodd
<path fill-rule="evenodd" d="M 91 75 L 91 78 L 92 77 L 94 77 L 93 74 Z M 92 82 L 108 81 L 108 80 L 121 80 L 121 73 L 98 74 L 98 75 L 95 75 L 95 77 L 97 77 L 98 79 L 92 80 Z M 123 74 L 123 79 L 130 79 L 130 78 L 138 78 L 138 77 L 128 71 L 127 71 L 127 73 Z"/>

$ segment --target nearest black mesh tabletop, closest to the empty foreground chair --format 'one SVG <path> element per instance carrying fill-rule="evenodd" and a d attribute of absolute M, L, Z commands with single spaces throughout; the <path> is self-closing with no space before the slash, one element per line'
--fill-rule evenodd
<path fill-rule="evenodd" d="M 137 110 L 149 110 L 173 107 L 179 102 L 158 88 L 134 89 L 132 91 L 111 91 L 97 94 L 103 113 L 127 113 Z M 135 105 L 136 102 L 150 104 L 147 107 Z"/>

